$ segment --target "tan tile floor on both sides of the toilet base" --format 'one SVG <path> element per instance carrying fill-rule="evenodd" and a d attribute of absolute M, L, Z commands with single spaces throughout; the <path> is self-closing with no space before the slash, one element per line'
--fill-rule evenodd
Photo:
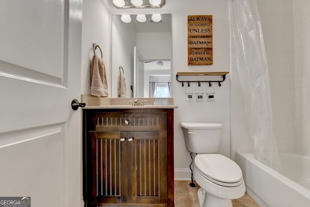
<path fill-rule="evenodd" d="M 174 207 L 199 207 L 197 184 L 192 188 L 190 181 L 174 181 Z M 243 197 L 233 200 L 233 207 L 259 207 L 246 193 Z"/>

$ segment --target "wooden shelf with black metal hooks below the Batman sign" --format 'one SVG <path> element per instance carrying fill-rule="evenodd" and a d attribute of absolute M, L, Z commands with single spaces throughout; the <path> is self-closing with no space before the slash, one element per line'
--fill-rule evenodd
<path fill-rule="evenodd" d="M 212 85 L 212 82 L 217 82 L 218 86 L 221 86 L 221 82 L 226 79 L 228 73 L 229 72 L 177 72 L 176 80 L 182 82 L 182 87 L 184 86 L 184 82 L 187 82 L 188 86 L 190 82 L 198 82 L 199 86 L 201 82 L 209 82 L 209 86 Z M 179 76 L 221 76 L 222 80 L 179 80 Z"/>

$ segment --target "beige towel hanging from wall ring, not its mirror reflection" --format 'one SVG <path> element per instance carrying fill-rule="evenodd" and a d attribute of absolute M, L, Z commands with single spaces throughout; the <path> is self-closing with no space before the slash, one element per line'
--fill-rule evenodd
<path fill-rule="evenodd" d="M 109 96 L 109 86 L 105 63 L 96 55 L 91 63 L 91 91 L 93 96 Z"/>

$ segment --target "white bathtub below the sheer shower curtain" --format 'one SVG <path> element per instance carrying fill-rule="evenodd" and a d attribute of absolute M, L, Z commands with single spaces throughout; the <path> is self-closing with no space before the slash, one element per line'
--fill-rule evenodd
<path fill-rule="evenodd" d="M 280 154 L 283 175 L 256 160 L 253 154 L 237 152 L 235 159 L 248 194 L 261 207 L 310 207 L 310 158 Z"/>

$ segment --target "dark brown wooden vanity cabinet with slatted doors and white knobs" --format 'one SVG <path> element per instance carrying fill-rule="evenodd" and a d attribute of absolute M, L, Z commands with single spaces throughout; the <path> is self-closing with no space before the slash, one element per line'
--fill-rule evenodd
<path fill-rule="evenodd" d="M 86 207 L 173 207 L 173 109 L 83 110 Z"/>

